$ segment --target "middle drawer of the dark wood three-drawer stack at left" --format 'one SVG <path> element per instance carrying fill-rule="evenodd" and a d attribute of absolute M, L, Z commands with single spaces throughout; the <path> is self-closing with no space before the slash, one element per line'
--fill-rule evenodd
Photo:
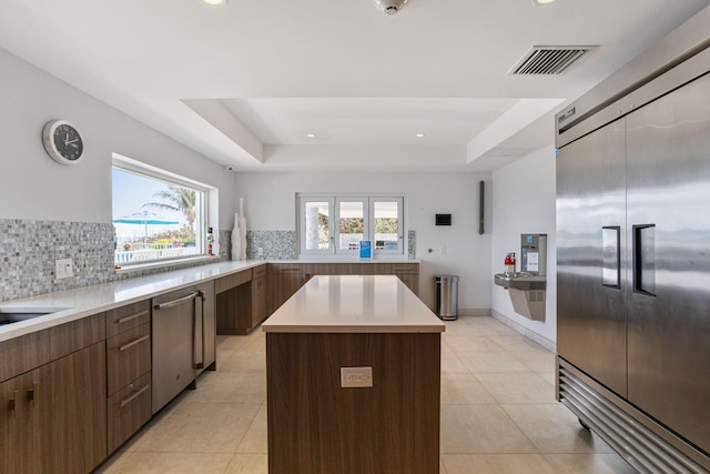
<path fill-rule="evenodd" d="M 108 393 L 151 370 L 151 325 L 143 324 L 106 340 Z"/>

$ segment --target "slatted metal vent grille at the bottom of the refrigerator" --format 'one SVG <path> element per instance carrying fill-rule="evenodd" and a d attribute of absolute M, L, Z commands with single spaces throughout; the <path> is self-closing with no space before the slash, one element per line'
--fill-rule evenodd
<path fill-rule="evenodd" d="M 561 366 L 559 401 L 639 472 L 706 472 L 704 467 Z"/>

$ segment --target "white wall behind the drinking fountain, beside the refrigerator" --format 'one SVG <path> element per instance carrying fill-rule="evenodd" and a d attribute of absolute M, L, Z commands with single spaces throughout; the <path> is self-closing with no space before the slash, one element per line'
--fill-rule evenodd
<path fill-rule="evenodd" d="M 545 322 L 531 321 L 513 310 L 508 292 L 491 286 L 491 310 L 550 342 L 557 341 L 555 150 L 550 145 L 493 172 L 493 244 L 489 279 L 504 271 L 508 252 L 518 256 L 520 234 L 547 234 L 547 294 Z"/>

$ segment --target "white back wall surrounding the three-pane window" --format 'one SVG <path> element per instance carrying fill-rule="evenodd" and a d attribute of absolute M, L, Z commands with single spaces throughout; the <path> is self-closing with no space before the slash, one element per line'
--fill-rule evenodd
<path fill-rule="evenodd" d="M 416 231 L 416 258 L 422 261 L 419 293 L 434 306 L 435 274 L 459 275 L 460 314 L 490 307 L 490 228 L 478 234 L 479 181 L 471 173 L 239 173 L 236 194 L 244 198 L 247 229 L 296 229 L 297 192 L 403 193 L 407 228 Z M 450 213 L 452 226 L 436 226 L 435 214 Z M 232 218 L 232 221 L 234 219 Z M 445 253 L 439 249 L 446 248 Z M 427 249 L 433 249 L 428 253 Z"/>

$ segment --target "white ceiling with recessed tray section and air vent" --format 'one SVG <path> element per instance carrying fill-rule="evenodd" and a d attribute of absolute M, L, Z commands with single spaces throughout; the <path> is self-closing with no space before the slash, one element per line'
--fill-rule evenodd
<path fill-rule="evenodd" d="M 489 171 L 551 144 L 564 102 L 708 4 L 2 0 L 0 48 L 236 170 Z M 599 48 L 510 75 L 534 46 Z"/>

